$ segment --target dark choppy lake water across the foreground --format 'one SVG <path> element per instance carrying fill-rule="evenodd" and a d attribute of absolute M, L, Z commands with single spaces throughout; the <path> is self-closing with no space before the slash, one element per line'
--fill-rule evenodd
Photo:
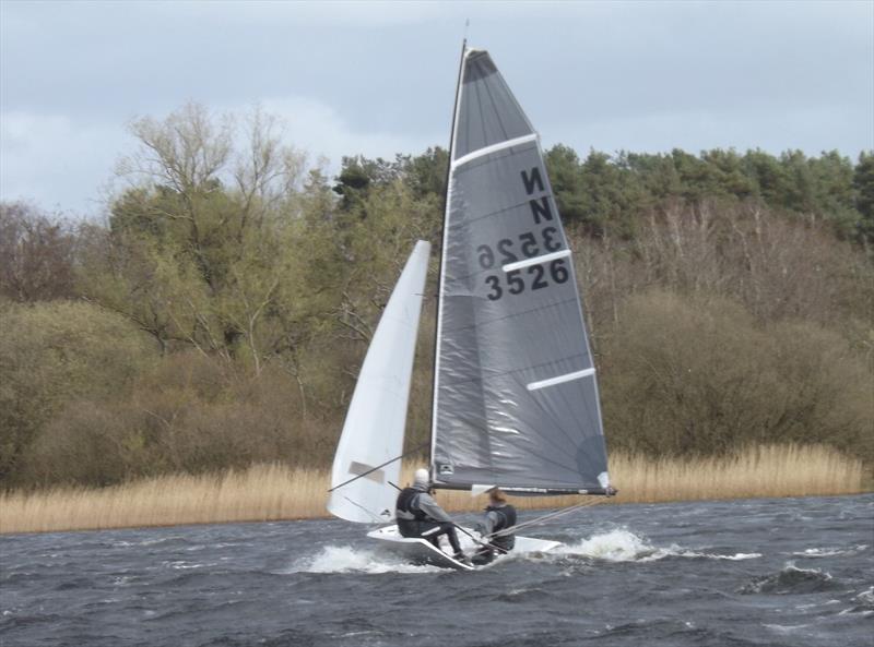
<path fill-rule="evenodd" d="M 564 546 L 479 573 L 336 520 L 2 537 L 0 645 L 874 645 L 872 495 L 601 506 L 530 535 Z"/>

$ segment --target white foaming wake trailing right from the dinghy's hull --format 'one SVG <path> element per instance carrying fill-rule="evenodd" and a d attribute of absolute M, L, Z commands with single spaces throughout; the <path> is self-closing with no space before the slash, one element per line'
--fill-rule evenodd
<path fill-rule="evenodd" d="M 692 558 L 705 560 L 755 560 L 761 553 L 719 554 L 702 552 L 671 544 L 668 548 L 652 546 L 645 537 L 626 529 L 593 535 L 579 543 L 563 544 L 552 551 L 562 558 L 583 558 L 606 562 L 654 562 L 665 558 Z"/>

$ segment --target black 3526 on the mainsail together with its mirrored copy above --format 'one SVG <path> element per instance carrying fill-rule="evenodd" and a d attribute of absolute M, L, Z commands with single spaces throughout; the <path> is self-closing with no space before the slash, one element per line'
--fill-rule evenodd
<path fill-rule="evenodd" d="M 542 253 L 557 252 L 562 249 L 558 231 L 555 227 L 545 227 L 541 231 L 541 240 L 532 231 L 527 231 L 519 236 L 518 241 L 511 238 L 503 238 L 498 241 L 498 254 L 501 265 L 516 263 L 520 260 L 516 250 L 522 254 L 522 259 L 531 259 Z M 483 269 L 492 269 L 498 261 L 495 251 L 487 244 L 476 248 L 477 260 Z M 547 269 L 548 267 L 548 269 Z M 491 301 L 500 299 L 505 291 L 510 295 L 519 295 L 525 290 L 539 290 L 550 286 L 550 283 L 562 284 L 569 278 L 565 259 L 530 265 L 528 267 L 512 269 L 504 274 L 504 280 L 496 274 L 485 277 L 485 284 L 489 287 L 486 298 Z"/>

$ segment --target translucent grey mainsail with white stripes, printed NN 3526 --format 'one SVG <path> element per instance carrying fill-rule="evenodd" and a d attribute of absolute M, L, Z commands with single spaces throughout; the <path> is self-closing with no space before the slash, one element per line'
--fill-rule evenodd
<path fill-rule="evenodd" d="M 487 52 L 462 58 L 432 427 L 438 488 L 603 493 L 598 384 L 540 142 Z"/>

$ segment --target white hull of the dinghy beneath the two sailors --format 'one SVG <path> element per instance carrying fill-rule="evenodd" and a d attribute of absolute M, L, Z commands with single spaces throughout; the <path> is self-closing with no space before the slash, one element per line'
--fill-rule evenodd
<path fill-rule="evenodd" d="M 471 532 L 470 528 L 464 528 Z M 402 537 L 398 531 L 398 526 L 383 526 L 367 534 L 367 537 L 375 539 L 379 542 L 380 548 L 392 552 L 393 554 L 402 555 L 412 564 L 429 564 L 432 566 L 439 566 L 440 568 L 456 568 L 457 571 L 475 571 L 482 566 L 469 566 L 453 560 L 450 552 L 442 551 L 426 539 L 417 537 Z M 461 549 L 471 555 L 477 544 L 464 535 L 458 534 L 459 543 Z M 446 541 L 445 537 L 441 542 Z M 558 541 L 550 541 L 547 539 L 534 539 L 533 537 L 516 537 L 516 547 L 512 554 L 524 554 L 531 552 L 550 552 L 556 547 L 560 546 Z M 447 546 L 447 551 L 451 549 Z M 492 562 L 493 564 L 495 562 Z"/>

